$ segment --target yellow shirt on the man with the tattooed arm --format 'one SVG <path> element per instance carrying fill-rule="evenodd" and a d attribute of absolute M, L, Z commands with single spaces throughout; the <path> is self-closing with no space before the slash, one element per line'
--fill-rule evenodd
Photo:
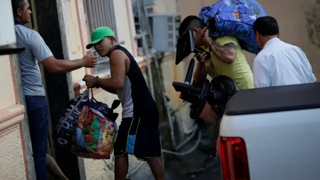
<path fill-rule="evenodd" d="M 232 78 L 238 85 L 239 89 L 253 88 L 253 74 L 248 62 L 245 59 L 242 48 L 239 45 L 238 40 L 234 36 L 218 37 L 215 40 L 218 44 L 224 45 L 226 43 L 234 43 L 236 45 L 235 60 L 231 64 L 227 64 L 219 60 L 211 51 L 211 62 L 215 67 L 217 75 L 226 75 Z M 205 51 L 209 51 L 209 48 L 204 48 Z M 214 72 L 210 60 L 205 62 L 206 72 L 213 78 Z"/>

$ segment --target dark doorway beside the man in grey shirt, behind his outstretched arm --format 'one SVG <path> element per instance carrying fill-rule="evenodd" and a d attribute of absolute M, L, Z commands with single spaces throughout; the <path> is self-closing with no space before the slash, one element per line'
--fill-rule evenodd
<path fill-rule="evenodd" d="M 57 59 L 68 59 L 65 27 L 63 25 L 62 0 L 29 0 L 31 21 L 27 27 L 37 31 Z M 41 14 L 38 15 L 37 14 Z M 47 19 L 50 19 L 48 21 Z M 70 179 L 85 179 L 83 159 L 68 154 L 52 139 L 52 127 L 73 97 L 71 74 L 53 74 L 39 64 L 42 83 L 49 107 L 48 152 L 56 160 L 63 173 Z M 28 164 L 33 165 L 33 164 Z M 34 167 L 33 167 L 34 169 Z M 81 170 L 80 170 L 81 169 Z"/>

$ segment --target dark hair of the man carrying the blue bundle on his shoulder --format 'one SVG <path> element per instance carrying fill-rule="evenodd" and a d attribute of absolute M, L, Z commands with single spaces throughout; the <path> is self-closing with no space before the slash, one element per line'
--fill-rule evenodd
<path fill-rule="evenodd" d="M 192 30 L 193 28 L 204 28 L 206 25 L 196 15 L 189 15 L 185 17 L 179 26 L 179 36 L 183 35 L 186 30 Z"/>

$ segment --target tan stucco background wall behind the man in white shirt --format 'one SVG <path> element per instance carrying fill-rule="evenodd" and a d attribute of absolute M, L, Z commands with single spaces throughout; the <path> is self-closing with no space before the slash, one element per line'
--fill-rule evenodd
<path fill-rule="evenodd" d="M 218 0 L 177 0 L 182 19 L 187 15 L 198 15 L 203 5 Z M 280 28 L 280 39 L 300 47 L 308 57 L 313 73 L 320 78 L 320 2 L 317 0 L 257 0 L 268 15 L 275 17 Z M 252 65 L 255 55 L 245 52 Z"/>

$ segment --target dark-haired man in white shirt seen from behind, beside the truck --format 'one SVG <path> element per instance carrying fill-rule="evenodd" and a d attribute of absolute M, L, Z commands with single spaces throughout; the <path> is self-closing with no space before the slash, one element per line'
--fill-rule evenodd
<path fill-rule="evenodd" d="M 310 83 L 316 80 L 304 52 L 281 41 L 279 27 L 271 16 L 253 23 L 255 39 L 262 49 L 253 60 L 254 87 Z"/>

